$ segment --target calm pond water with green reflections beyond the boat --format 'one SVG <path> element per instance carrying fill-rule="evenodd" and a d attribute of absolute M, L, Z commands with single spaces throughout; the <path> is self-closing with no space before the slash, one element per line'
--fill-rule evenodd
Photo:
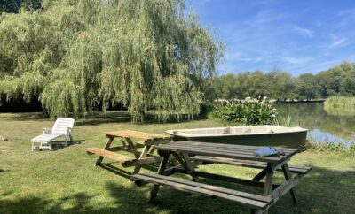
<path fill-rule="evenodd" d="M 282 103 L 276 108 L 280 125 L 290 121 L 290 126 L 309 129 L 311 141 L 343 142 L 346 145 L 355 141 L 355 115 L 328 113 L 323 109 L 323 103 Z"/>

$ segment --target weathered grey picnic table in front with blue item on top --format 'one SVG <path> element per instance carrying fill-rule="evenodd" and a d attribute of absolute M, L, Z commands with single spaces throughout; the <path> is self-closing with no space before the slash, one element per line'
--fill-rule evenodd
<path fill-rule="evenodd" d="M 247 206 L 252 213 L 267 213 L 268 209 L 278 199 L 290 192 L 294 203 L 297 203 L 296 190 L 294 186 L 301 178 L 311 170 L 310 167 L 289 167 L 288 162 L 294 156 L 297 149 L 281 149 L 284 155 L 278 157 L 256 157 L 255 152 L 262 147 L 242 146 L 231 144 L 176 141 L 164 145 L 155 146 L 162 156 L 157 173 L 143 173 L 131 176 L 131 180 L 136 180 L 136 184 L 142 185 L 146 182 L 153 183 L 150 202 L 154 203 L 160 186 L 172 187 L 197 195 L 205 195 L 224 199 L 233 203 Z M 180 163 L 174 167 L 166 169 L 170 155 L 175 157 Z M 199 164 L 218 163 L 232 164 L 242 167 L 252 167 L 262 169 L 252 180 L 228 177 L 209 172 L 198 172 L 195 170 Z M 274 184 L 273 175 L 275 171 L 282 171 L 285 181 L 281 184 Z M 169 177 L 174 172 L 187 173 L 193 181 L 181 180 Z M 225 180 L 243 185 L 262 187 L 263 194 L 255 195 L 233 189 L 215 187 L 199 182 L 199 177 Z M 265 178 L 265 181 L 262 182 Z"/>

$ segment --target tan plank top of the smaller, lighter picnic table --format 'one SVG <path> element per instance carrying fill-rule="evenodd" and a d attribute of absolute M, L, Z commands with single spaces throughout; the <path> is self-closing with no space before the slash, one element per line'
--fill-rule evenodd
<path fill-rule="evenodd" d="M 144 133 L 144 132 L 138 132 L 132 130 L 110 131 L 110 132 L 105 132 L 105 134 L 106 136 L 109 137 L 138 138 L 144 141 L 166 140 L 171 138 L 170 135 Z"/>

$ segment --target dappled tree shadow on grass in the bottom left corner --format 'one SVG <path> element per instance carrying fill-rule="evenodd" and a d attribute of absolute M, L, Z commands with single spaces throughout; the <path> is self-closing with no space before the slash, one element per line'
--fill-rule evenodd
<path fill-rule="evenodd" d="M 105 187 L 114 200 L 110 203 L 99 201 L 100 195 L 79 192 L 57 200 L 44 195 L 27 195 L 16 200 L 5 199 L 9 194 L 0 195 L 0 213 L 156 213 L 146 203 L 146 195 L 133 185 L 129 187 L 108 182 Z M 11 193 L 10 193 L 11 195 Z"/>

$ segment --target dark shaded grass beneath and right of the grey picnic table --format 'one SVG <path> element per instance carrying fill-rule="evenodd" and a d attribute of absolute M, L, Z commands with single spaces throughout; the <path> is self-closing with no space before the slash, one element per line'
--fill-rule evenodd
<path fill-rule="evenodd" d="M 279 174 L 280 177 L 283 175 Z M 188 176 L 186 177 L 189 180 Z M 354 171 L 331 171 L 312 167 L 312 171 L 296 186 L 298 205 L 290 194 L 284 195 L 272 205 L 271 213 L 353 213 L 355 209 Z M 219 187 L 226 187 L 254 194 L 262 194 L 262 188 L 248 187 L 217 180 L 201 179 L 201 182 Z M 152 185 L 149 185 L 152 187 Z M 146 198 L 146 201 L 148 198 Z M 247 208 L 225 203 L 204 196 L 191 195 L 168 187 L 162 187 L 157 197 L 157 205 L 162 209 L 185 213 L 249 213 Z M 184 204 L 184 205 L 182 205 Z"/>

